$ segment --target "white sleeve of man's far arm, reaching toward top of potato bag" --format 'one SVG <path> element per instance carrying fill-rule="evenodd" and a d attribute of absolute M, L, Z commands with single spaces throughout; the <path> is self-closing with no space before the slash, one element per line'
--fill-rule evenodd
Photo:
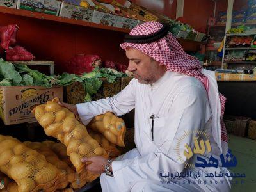
<path fill-rule="evenodd" d="M 136 79 L 130 83 L 118 94 L 106 99 L 76 104 L 79 117 L 84 125 L 87 125 L 94 116 L 113 112 L 116 116 L 124 115 L 131 111 L 135 106 Z"/>

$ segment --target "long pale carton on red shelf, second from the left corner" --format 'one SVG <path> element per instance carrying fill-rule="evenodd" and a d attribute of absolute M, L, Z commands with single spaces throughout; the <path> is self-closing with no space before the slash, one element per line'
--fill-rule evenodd
<path fill-rule="evenodd" d="M 61 1 L 56 0 L 18 0 L 17 9 L 59 15 Z"/>

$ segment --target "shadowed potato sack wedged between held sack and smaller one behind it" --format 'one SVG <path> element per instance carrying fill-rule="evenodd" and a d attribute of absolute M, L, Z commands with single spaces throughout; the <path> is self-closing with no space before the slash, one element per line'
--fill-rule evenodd
<path fill-rule="evenodd" d="M 108 152 L 109 157 L 113 158 L 121 155 L 121 152 L 116 148 L 116 145 L 110 143 L 102 134 L 94 132 L 91 129 L 88 129 L 88 133 L 100 144 L 100 147 L 104 148 L 104 150 Z"/>

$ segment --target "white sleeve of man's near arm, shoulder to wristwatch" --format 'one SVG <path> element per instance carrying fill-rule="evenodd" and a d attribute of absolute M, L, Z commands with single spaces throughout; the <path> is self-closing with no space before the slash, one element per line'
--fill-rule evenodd
<path fill-rule="evenodd" d="M 164 129 L 170 131 L 168 138 L 173 138 L 171 129 L 177 130 L 172 141 L 165 140 L 161 147 L 151 152 L 147 156 L 139 156 L 134 159 L 113 161 L 113 174 L 119 188 L 130 191 L 132 186 L 140 180 L 150 180 L 160 182 L 159 173 L 163 172 L 182 172 L 184 163 L 178 161 L 179 154 L 175 150 L 177 142 L 184 131 L 194 129 L 204 129 L 205 108 L 207 106 L 207 94 L 202 88 L 187 86 L 173 100 L 168 113 L 168 124 Z M 142 127 L 140 127 L 142 129 Z M 159 133 L 161 134 L 161 133 Z M 184 138 L 185 142 L 193 146 L 193 136 Z M 184 150 L 182 149 L 182 155 Z M 186 159 L 185 157 L 184 160 Z"/>

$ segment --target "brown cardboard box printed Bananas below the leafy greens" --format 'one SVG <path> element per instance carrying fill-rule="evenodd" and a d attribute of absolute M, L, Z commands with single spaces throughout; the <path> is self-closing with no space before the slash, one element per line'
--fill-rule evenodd
<path fill-rule="evenodd" d="M 35 121 L 31 110 L 54 97 L 63 100 L 62 86 L 0 86 L 0 116 L 6 125 Z"/>

